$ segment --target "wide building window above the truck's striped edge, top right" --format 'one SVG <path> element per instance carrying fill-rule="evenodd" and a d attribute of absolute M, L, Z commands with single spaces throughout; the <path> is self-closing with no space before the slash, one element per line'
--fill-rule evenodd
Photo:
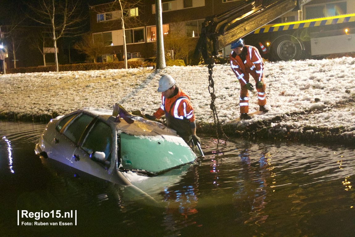
<path fill-rule="evenodd" d="M 306 20 L 328 16 L 339 16 L 346 14 L 346 2 L 326 3 L 313 6 L 306 6 Z"/>

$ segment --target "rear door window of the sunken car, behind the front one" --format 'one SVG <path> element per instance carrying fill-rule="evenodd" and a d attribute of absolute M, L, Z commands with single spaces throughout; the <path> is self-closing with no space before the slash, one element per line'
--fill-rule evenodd
<path fill-rule="evenodd" d="M 75 118 L 68 126 L 66 126 L 63 134 L 77 144 L 81 135 L 93 119 L 93 117 L 87 114 L 81 114 L 78 118 Z"/>

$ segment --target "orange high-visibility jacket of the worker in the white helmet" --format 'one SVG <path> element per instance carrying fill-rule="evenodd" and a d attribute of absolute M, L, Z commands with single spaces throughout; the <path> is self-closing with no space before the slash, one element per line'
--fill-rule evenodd
<path fill-rule="evenodd" d="M 181 96 L 187 98 L 179 98 Z M 190 97 L 186 95 L 185 92 L 181 91 L 180 88 L 178 94 L 172 98 L 165 98 L 162 95 L 162 105 L 157 112 L 154 113 L 154 116 L 159 119 L 165 114 L 165 112 L 177 119 L 184 119 L 185 117 L 190 122 L 195 121 L 195 114 L 193 114 Z"/>

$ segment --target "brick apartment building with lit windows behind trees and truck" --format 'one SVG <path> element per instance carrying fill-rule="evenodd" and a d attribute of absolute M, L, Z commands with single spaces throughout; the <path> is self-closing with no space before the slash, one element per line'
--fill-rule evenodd
<path fill-rule="evenodd" d="M 130 2 L 136 3 L 133 0 Z M 179 27 L 182 34 L 197 43 L 201 24 L 207 16 L 231 9 L 240 2 L 241 0 L 162 0 L 163 33 L 169 34 L 173 27 Z M 344 14 L 354 10 L 354 7 L 355 0 L 313 0 L 303 6 L 301 11 L 288 12 L 277 21 L 320 17 L 324 14 L 324 9 L 334 11 L 334 14 Z M 127 58 L 155 56 L 155 0 L 141 0 L 123 8 Z M 91 6 L 89 15 L 93 41 L 102 40 L 107 45 L 105 54 L 98 61 L 112 61 L 114 55 L 122 60 L 124 41 L 119 3 L 113 1 Z"/>

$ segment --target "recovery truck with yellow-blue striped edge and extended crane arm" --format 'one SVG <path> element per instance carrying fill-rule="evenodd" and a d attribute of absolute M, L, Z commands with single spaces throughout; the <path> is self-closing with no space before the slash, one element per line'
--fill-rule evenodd
<path fill-rule="evenodd" d="M 208 16 L 202 24 L 195 55 L 201 52 L 204 62 L 211 64 L 220 50 L 240 38 L 257 47 L 270 61 L 355 52 L 355 14 L 267 25 L 310 1 L 245 0 L 233 9 Z M 224 51 L 228 57 L 230 50 Z"/>

